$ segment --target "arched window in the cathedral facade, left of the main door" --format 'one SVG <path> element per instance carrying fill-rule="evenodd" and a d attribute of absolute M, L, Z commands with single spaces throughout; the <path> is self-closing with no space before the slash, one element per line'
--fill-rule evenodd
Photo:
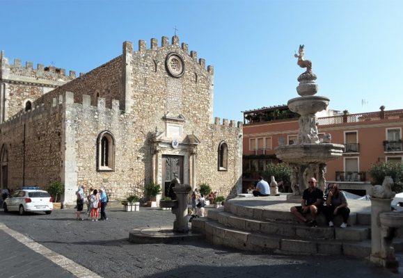
<path fill-rule="evenodd" d="M 103 131 L 97 139 L 97 170 L 115 170 L 115 139 L 109 131 Z"/>

